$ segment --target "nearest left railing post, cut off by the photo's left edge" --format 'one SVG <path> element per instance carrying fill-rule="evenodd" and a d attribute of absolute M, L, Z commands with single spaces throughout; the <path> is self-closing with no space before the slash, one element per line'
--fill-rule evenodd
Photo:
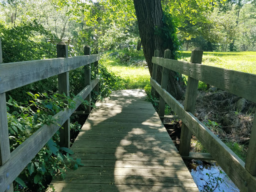
<path fill-rule="evenodd" d="M 0 63 L 2 63 L 2 49 L 0 38 Z M 0 166 L 3 165 L 10 158 L 10 144 L 9 144 L 9 131 L 8 119 L 6 109 L 6 96 L 5 92 L 0 93 Z M 6 173 L 7 176 L 8 173 Z M 13 185 L 10 183 L 6 192 L 13 191 Z"/>

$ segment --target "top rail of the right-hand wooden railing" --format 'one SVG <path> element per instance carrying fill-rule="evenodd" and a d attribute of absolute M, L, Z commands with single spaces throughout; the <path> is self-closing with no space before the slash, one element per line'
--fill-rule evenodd
<path fill-rule="evenodd" d="M 256 74 L 160 57 L 152 62 L 256 102 Z"/>

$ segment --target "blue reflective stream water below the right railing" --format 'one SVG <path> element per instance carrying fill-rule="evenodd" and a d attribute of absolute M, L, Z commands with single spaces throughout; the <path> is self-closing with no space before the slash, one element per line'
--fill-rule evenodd
<path fill-rule="evenodd" d="M 194 179 L 195 184 L 197 185 L 199 191 L 203 191 L 203 185 L 209 181 L 209 176 L 206 174 L 212 175 L 210 178 L 220 177 L 223 179 L 223 182 L 219 182 L 219 188 L 217 187 L 214 191 L 224 191 L 224 192 L 239 192 L 239 189 L 235 184 L 229 179 L 225 172 L 218 166 L 215 162 L 210 161 L 210 163 L 202 162 L 200 160 L 191 160 L 188 163 L 188 169 Z M 220 173 L 220 171 L 222 173 Z M 211 182 L 212 183 L 212 182 Z M 213 187 L 214 188 L 214 187 Z M 207 191 L 207 190 L 204 190 Z"/>

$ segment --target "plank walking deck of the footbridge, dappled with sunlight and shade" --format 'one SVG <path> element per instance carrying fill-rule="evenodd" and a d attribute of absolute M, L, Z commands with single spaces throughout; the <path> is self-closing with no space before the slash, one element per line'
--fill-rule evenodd
<path fill-rule="evenodd" d="M 71 149 L 84 166 L 54 179 L 64 191 L 198 191 L 141 89 L 97 102 Z M 50 191 L 50 190 L 48 190 Z"/>

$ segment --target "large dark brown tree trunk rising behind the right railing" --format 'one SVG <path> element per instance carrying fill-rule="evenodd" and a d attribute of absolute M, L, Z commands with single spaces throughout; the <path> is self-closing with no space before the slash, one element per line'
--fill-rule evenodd
<path fill-rule="evenodd" d="M 161 0 L 133 0 L 137 16 L 138 30 L 143 46 L 145 60 L 148 65 L 149 73 L 152 76 L 153 64 L 151 62 L 154 50 L 158 49 L 159 54 L 163 57 L 164 39 L 155 34 L 155 27 L 162 27 L 162 7 Z M 156 81 L 161 80 L 161 67 L 157 69 Z M 184 82 L 181 75 L 175 71 L 169 70 L 167 91 L 176 99 L 183 96 Z"/>

